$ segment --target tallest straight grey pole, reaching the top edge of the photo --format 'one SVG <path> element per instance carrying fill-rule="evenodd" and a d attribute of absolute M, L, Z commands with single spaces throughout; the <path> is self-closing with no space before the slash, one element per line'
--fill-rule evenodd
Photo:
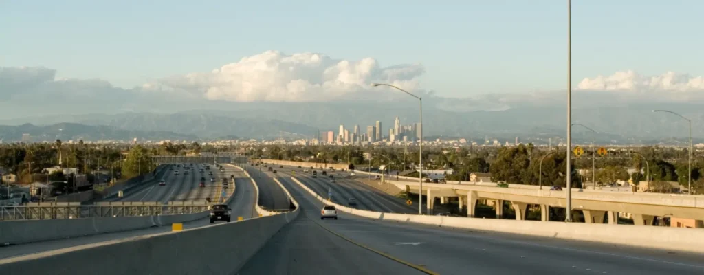
<path fill-rule="evenodd" d="M 567 212 L 572 222 L 572 1 L 567 0 Z"/>

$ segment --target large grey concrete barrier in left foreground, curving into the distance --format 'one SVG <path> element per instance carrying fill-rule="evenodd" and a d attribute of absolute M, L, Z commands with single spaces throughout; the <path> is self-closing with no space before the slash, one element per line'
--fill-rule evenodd
<path fill-rule="evenodd" d="M 296 206 L 291 212 L 12 257 L 0 260 L 0 269 L 7 274 L 235 274 L 298 217 L 298 202 L 284 192 Z"/>

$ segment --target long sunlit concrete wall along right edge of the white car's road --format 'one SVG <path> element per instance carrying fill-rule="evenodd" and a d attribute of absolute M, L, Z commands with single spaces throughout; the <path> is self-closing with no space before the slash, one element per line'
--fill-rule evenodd
<path fill-rule="evenodd" d="M 578 241 L 593 241 L 643 248 L 704 252 L 704 230 L 662 226 L 624 226 L 616 224 L 582 224 L 565 222 L 516 221 L 511 219 L 479 219 L 469 217 L 445 217 L 380 213 L 356 210 L 337 205 L 318 196 L 305 184 L 293 179 L 298 186 L 318 198 L 322 203 L 335 205 L 337 210 L 351 215 L 395 222 L 413 222 L 458 229 L 495 231 L 508 234 L 562 238 Z M 657 241 L 654 241 L 657 240 Z"/>

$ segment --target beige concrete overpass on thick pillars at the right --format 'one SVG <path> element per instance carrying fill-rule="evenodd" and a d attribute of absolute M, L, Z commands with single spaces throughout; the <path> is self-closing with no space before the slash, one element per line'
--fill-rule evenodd
<path fill-rule="evenodd" d="M 398 188 L 409 193 L 418 193 L 418 183 L 413 181 L 392 181 Z M 549 207 L 566 207 L 567 193 L 534 188 L 503 188 L 498 186 L 482 186 L 470 184 L 423 184 L 423 192 L 427 197 L 428 209 L 432 210 L 435 198 L 443 201 L 448 197 L 457 197 L 460 207 L 467 205 L 467 216 L 474 216 L 478 200 L 495 200 L 496 205 L 510 201 L 516 212 L 516 219 L 524 219 L 528 205 L 541 206 L 541 219 L 548 220 Z M 696 220 L 697 227 L 704 227 L 704 196 L 660 193 L 625 193 L 611 191 L 580 191 L 572 190 L 573 210 L 584 213 L 586 223 L 601 224 L 604 217 L 608 223 L 617 223 L 617 212 L 631 213 L 636 225 L 651 225 L 655 217 L 679 217 Z M 496 207 L 500 215 L 503 207 Z"/>

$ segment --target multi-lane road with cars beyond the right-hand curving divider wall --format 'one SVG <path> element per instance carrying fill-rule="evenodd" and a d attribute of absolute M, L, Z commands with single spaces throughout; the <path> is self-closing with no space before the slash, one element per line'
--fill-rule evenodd
<path fill-rule="evenodd" d="M 303 169 L 284 166 L 284 168 L 279 168 L 280 175 L 278 177 L 294 176 L 301 180 L 306 179 L 301 182 L 306 184 L 308 188 L 313 189 L 318 195 L 324 197 L 327 197 L 328 191 L 332 191 L 332 202 L 341 205 L 348 205 L 348 198 L 355 198 L 357 201 L 356 208 L 360 210 L 402 214 L 415 214 L 418 212 L 416 207 L 406 205 L 406 201 L 402 198 L 396 198 L 372 186 L 349 179 L 349 172 L 331 172 L 328 170 L 327 174 L 332 174 L 336 181 L 331 183 L 329 177 L 321 174 L 321 170 L 317 170 L 318 177 L 313 178 L 313 172 L 310 171 L 310 168 L 308 168 L 308 172 L 303 172 Z"/>

